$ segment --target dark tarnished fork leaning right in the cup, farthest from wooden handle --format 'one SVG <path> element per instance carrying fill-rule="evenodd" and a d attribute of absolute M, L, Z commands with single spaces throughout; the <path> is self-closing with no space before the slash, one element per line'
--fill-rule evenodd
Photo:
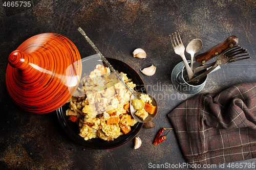
<path fill-rule="evenodd" d="M 244 56 L 248 56 L 249 54 L 245 54 L 248 53 L 246 51 L 246 49 L 242 48 L 241 46 L 235 45 L 231 48 L 228 48 L 226 51 L 224 51 L 223 53 L 221 53 L 218 57 L 216 62 L 214 63 L 214 65 L 212 67 L 210 67 L 208 70 L 206 70 L 205 72 L 203 72 L 201 75 L 187 81 L 188 84 L 192 84 L 192 85 L 197 85 L 200 80 L 202 78 L 204 78 L 205 76 L 207 76 L 212 70 L 214 70 L 218 65 L 221 64 L 229 64 L 235 61 L 240 61 L 240 60 L 244 60 L 244 59 L 248 59 L 250 57 L 245 57 L 245 58 L 240 58 L 240 59 L 235 59 L 238 57 L 244 57 Z M 245 54 L 245 55 L 241 55 L 241 56 L 237 56 L 239 54 Z M 236 57 L 234 57 L 236 56 Z M 233 60 L 234 59 L 234 60 Z M 209 64 L 210 66 L 210 64 Z"/>

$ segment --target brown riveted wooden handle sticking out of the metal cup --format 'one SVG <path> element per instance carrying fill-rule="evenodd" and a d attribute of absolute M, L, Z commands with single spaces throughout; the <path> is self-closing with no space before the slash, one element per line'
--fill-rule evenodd
<path fill-rule="evenodd" d="M 214 47 L 211 47 L 209 50 L 207 50 L 202 54 L 197 55 L 195 58 L 200 64 L 203 64 L 206 61 L 218 56 L 219 54 L 224 52 L 227 48 L 237 44 L 238 44 L 238 37 L 230 36 L 222 43 L 215 45 Z"/>

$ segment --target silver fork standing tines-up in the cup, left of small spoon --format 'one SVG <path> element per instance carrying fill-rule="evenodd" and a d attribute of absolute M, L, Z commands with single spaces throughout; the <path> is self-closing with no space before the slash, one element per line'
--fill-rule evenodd
<path fill-rule="evenodd" d="M 170 42 L 172 42 L 172 45 L 174 47 L 174 52 L 176 54 L 178 54 L 179 56 L 181 56 L 181 58 L 182 58 L 182 60 L 184 62 L 184 65 L 185 65 L 186 70 L 187 70 L 188 79 L 189 80 L 192 79 L 195 76 L 194 76 L 194 73 L 191 70 L 190 66 L 188 65 L 187 59 L 185 57 L 185 53 L 184 53 L 185 52 L 185 47 L 184 47 L 184 45 L 183 45 L 183 43 L 181 41 L 179 32 L 176 31 L 175 33 L 172 34 L 172 36 L 169 35 L 169 37 L 170 37 Z M 179 37 L 179 39 L 178 39 L 178 37 Z"/>

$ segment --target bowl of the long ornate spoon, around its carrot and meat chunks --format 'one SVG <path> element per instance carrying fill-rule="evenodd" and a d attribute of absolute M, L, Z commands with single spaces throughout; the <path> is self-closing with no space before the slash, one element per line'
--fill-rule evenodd
<path fill-rule="evenodd" d="M 141 92 L 133 92 L 132 93 L 131 101 L 130 101 L 130 111 L 131 111 L 132 116 L 135 118 L 135 120 L 137 120 L 138 122 L 147 123 L 147 122 L 150 122 L 151 120 L 153 120 L 156 117 L 158 106 L 157 106 L 156 100 L 151 95 L 147 94 L 152 100 L 152 102 L 151 102 L 152 105 L 156 106 L 156 110 L 155 110 L 154 114 L 148 114 L 148 116 L 145 118 L 145 120 L 142 120 L 141 118 L 139 118 L 135 114 L 137 112 L 137 110 L 134 109 L 134 107 L 132 105 L 132 101 L 133 101 L 133 99 L 140 99 L 141 94 L 145 94 L 145 93 L 141 93 Z"/>

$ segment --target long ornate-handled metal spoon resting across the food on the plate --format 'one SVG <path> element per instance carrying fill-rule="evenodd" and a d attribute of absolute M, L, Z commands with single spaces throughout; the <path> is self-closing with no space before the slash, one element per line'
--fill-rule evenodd
<path fill-rule="evenodd" d="M 132 93 L 131 95 L 131 100 L 130 100 L 130 110 L 131 110 L 131 114 L 132 116 L 138 121 L 138 122 L 142 122 L 142 123 L 147 123 L 147 122 L 150 122 L 153 118 L 156 117 L 157 115 L 157 109 L 158 109 L 158 106 L 157 106 L 157 102 L 156 100 L 151 96 L 151 95 L 148 95 L 151 100 L 152 100 L 152 104 L 154 106 L 156 106 L 156 110 L 154 112 L 154 114 L 148 114 L 148 116 L 142 120 L 140 119 L 135 113 L 137 112 L 136 109 L 134 109 L 133 105 L 132 105 L 132 100 L 133 99 L 140 99 L 140 95 L 141 94 L 144 94 L 144 93 L 141 93 L 141 92 L 135 92 L 133 91 L 129 86 L 127 86 L 125 84 L 125 82 L 122 80 L 122 78 L 118 75 L 118 73 L 116 72 L 115 68 L 109 63 L 108 60 L 106 60 L 106 58 L 100 53 L 100 51 L 98 50 L 97 46 L 92 42 L 92 40 L 86 35 L 86 33 L 79 27 L 77 29 L 83 36 L 84 38 L 86 38 L 86 40 L 89 42 L 89 44 L 93 47 L 93 49 L 95 50 L 95 52 L 100 56 L 101 60 L 110 68 L 111 71 L 114 72 L 114 74 L 117 76 L 117 78 L 120 80 L 120 82 Z"/>

